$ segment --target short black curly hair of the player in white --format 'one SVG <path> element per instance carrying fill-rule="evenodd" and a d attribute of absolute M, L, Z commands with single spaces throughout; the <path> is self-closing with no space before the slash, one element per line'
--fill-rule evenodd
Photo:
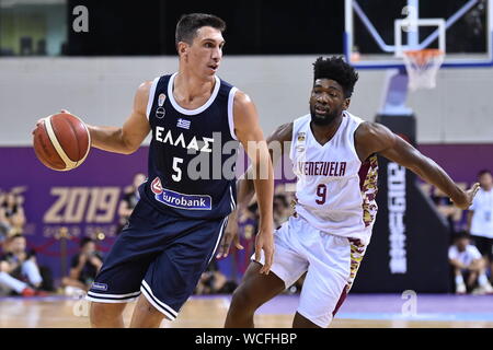
<path fill-rule="evenodd" d="M 353 95 L 358 78 L 356 70 L 339 56 L 319 57 L 313 63 L 313 82 L 317 79 L 335 80 L 344 89 L 346 98 Z"/>

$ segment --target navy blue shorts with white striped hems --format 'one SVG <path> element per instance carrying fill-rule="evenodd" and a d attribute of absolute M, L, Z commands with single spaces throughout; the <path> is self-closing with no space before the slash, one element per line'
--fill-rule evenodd
<path fill-rule="evenodd" d="M 140 200 L 87 299 L 126 303 L 144 293 L 157 310 L 174 319 L 213 259 L 226 224 L 227 218 L 164 215 Z"/>

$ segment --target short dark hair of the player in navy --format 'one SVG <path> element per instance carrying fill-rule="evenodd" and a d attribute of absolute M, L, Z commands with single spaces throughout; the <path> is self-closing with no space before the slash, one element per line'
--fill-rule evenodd
<path fill-rule="evenodd" d="M 175 43 L 184 42 L 192 44 L 197 30 L 203 26 L 211 26 L 221 32 L 226 31 L 226 23 L 214 14 L 206 13 L 188 13 L 181 16 L 176 24 Z"/>

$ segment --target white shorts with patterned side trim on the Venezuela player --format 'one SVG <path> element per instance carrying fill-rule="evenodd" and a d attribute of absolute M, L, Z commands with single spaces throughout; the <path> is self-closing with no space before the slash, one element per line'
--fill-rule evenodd
<path fill-rule="evenodd" d="M 316 325 L 328 327 L 351 288 L 365 247 L 323 233 L 299 217 L 289 218 L 274 232 L 274 243 L 271 271 L 286 288 L 308 271 L 297 311 Z M 263 252 L 259 262 L 265 262 Z"/>

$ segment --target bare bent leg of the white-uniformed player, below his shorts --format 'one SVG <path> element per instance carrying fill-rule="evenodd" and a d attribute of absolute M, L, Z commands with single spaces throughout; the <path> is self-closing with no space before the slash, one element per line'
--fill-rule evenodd
<path fill-rule="evenodd" d="M 261 275 L 261 264 L 250 262 L 240 287 L 232 295 L 226 316 L 226 328 L 253 328 L 255 311 L 286 289 L 283 280 L 272 271 Z"/>

